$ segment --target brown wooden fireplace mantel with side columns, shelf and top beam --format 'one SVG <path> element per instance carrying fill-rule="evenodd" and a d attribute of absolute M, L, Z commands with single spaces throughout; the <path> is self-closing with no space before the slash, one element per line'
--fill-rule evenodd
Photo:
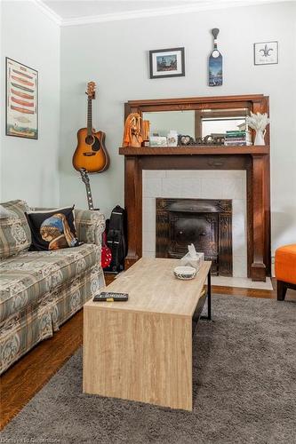
<path fill-rule="evenodd" d="M 221 96 L 208 98 L 134 100 L 131 112 L 248 107 L 268 113 L 268 97 Z M 246 170 L 248 277 L 265 281 L 270 275 L 269 128 L 265 146 L 120 147 L 124 155 L 124 204 L 128 218 L 128 255 L 125 267 L 142 254 L 142 170 Z"/>

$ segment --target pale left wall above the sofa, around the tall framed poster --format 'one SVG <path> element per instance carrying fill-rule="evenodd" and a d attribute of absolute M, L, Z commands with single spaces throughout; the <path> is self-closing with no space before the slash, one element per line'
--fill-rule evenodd
<path fill-rule="evenodd" d="M 60 28 L 36 4 L 2 2 L 1 201 L 59 205 Z M 39 139 L 5 136 L 5 57 L 39 74 Z"/>

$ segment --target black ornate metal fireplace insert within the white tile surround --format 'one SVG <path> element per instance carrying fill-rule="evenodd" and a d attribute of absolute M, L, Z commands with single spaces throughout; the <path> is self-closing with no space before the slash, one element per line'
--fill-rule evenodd
<path fill-rule="evenodd" d="M 232 202 L 156 198 L 156 258 L 181 258 L 194 243 L 212 274 L 232 276 Z"/>

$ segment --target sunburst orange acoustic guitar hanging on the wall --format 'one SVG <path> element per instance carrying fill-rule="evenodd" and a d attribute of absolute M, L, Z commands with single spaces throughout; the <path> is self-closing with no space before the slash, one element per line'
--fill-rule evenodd
<path fill-rule="evenodd" d="M 105 133 L 92 128 L 92 100 L 95 99 L 95 88 L 94 82 L 87 83 L 87 128 L 81 128 L 77 132 L 78 144 L 72 159 L 77 171 L 84 168 L 88 172 L 103 172 L 109 166 Z"/>

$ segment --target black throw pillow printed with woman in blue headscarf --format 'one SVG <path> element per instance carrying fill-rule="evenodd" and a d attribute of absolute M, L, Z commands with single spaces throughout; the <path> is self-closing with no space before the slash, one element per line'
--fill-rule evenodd
<path fill-rule="evenodd" d="M 51 211 L 29 211 L 26 216 L 32 234 L 29 250 L 60 250 L 79 245 L 74 205 Z"/>

